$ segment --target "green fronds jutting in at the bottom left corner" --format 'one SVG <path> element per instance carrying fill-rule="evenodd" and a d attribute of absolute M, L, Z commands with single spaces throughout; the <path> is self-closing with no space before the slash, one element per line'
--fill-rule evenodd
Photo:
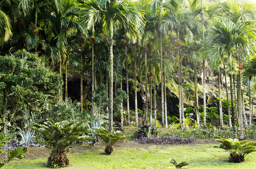
<path fill-rule="evenodd" d="M 12 139 L 12 137 L 15 134 L 8 134 L 7 136 L 5 136 L 4 132 L 0 133 L 0 147 L 4 147 L 7 143 L 9 143 Z M 4 149 L 0 149 L 0 154 L 4 153 Z M 12 150 L 7 159 L 4 159 L 3 162 L 0 162 L 0 168 L 3 167 L 4 165 L 6 165 L 8 162 L 10 162 L 12 159 L 14 158 L 19 158 L 22 159 L 24 157 L 27 157 L 25 154 L 27 153 L 27 151 L 23 150 L 23 148 L 17 147 L 14 150 Z"/>

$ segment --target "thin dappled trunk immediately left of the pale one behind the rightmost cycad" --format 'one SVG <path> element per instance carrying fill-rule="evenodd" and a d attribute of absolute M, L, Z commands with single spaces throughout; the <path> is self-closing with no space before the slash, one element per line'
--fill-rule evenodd
<path fill-rule="evenodd" d="M 236 112 L 234 110 L 234 96 L 233 96 L 233 76 L 229 74 L 230 78 L 230 95 L 231 95 L 231 120 L 232 120 L 232 134 L 233 138 L 237 138 L 237 121 L 236 121 Z"/>

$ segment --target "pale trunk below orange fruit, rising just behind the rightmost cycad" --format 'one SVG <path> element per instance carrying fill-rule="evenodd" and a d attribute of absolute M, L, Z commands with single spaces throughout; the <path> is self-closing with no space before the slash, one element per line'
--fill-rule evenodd
<path fill-rule="evenodd" d="M 243 112 L 242 112 L 242 96 L 241 96 L 241 71 L 237 75 L 237 92 L 238 92 L 238 113 L 240 118 L 240 139 L 244 138 Z"/>

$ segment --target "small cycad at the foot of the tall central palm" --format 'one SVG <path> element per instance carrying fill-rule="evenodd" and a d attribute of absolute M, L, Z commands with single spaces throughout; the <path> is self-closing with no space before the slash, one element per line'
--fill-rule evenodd
<path fill-rule="evenodd" d="M 119 140 L 125 139 L 127 136 L 122 136 L 121 131 L 116 131 L 113 134 L 111 134 L 108 130 L 104 128 L 95 129 L 95 136 L 98 136 L 103 140 L 105 143 L 105 153 L 107 155 L 110 155 L 113 152 L 113 146 L 116 144 Z"/>

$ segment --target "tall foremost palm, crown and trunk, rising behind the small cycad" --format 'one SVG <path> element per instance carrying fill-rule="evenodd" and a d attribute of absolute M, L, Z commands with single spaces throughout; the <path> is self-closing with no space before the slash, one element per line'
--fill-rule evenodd
<path fill-rule="evenodd" d="M 142 11 L 135 3 L 126 0 L 91 0 L 86 3 L 89 21 L 88 28 L 99 21 L 103 22 L 103 31 L 109 33 L 110 47 L 110 112 L 109 131 L 113 130 L 113 35 L 120 26 L 123 26 L 134 35 L 138 27 L 143 24 Z"/>

